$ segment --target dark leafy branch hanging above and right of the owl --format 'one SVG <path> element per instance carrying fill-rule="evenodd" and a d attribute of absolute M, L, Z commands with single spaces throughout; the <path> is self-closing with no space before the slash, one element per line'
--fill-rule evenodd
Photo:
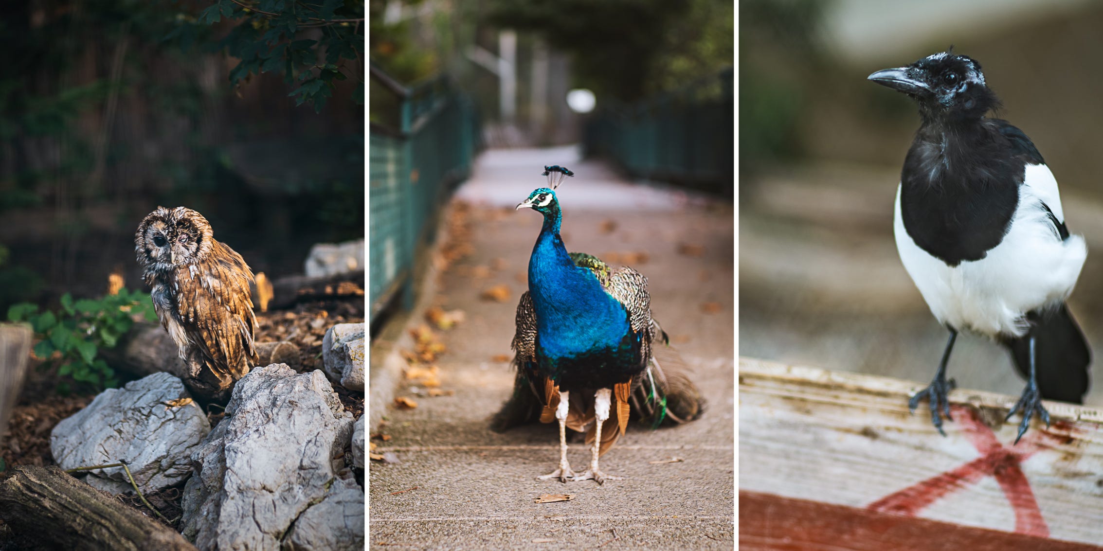
<path fill-rule="evenodd" d="M 223 20 L 234 22 L 214 44 L 238 61 L 229 72 L 234 86 L 253 75 L 275 72 L 293 87 L 296 105 L 310 104 L 321 112 L 333 97 L 336 80 L 358 79 L 353 93 L 364 102 L 363 0 L 215 0 L 197 17 L 182 13 L 167 39 L 179 40 L 186 50 L 201 26 Z"/>

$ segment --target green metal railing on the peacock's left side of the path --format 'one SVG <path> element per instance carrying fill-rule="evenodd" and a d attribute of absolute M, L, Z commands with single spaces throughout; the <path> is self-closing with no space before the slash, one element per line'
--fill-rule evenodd
<path fill-rule="evenodd" d="M 371 72 L 398 111 L 394 126 L 373 120 L 370 131 L 368 300 L 375 317 L 396 296 L 413 305 L 416 252 L 432 239 L 437 210 L 454 184 L 470 174 L 480 140 L 473 102 L 447 76 L 407 88 L 375 66 Z"/>

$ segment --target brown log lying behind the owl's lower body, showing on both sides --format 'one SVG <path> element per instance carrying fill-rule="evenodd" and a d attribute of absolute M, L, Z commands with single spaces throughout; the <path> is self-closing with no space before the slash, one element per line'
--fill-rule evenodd
<path fill-rule="evenodd" d="M 298 369 L 302 365 L 299 347 L 291 343 L 257 343 L 256 347 L 259 359 L 254 367 L 287 364 L 292 369 Z M 202 377 L 194 377 L 185 361 L 180 359 L 176 343 L 158 324 L 135 324 L 119 339 L 115 348 L 104 349 L 100 354 L 113 368 L 136 377 L 146 377 L 160 371 L 175 375 L 184 381 L 194 398 L 213 401 L 225 401 L 229 398 L 228 389 L 233 382 L 221 385 Z"/>

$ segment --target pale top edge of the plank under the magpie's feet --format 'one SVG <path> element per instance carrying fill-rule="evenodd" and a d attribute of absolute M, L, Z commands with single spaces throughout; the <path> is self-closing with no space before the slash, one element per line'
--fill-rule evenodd
<path fill-rule="evenodd" d="M 747 390 L 751 390 L 756 387 L 756 382 L 831 388 L 879 397 L 897 396 L 904 401 L 927 385 L 892 377 L 833 371 L 820 367 L 794 366 L 740 356 L 739 391 L 745 391 L 745 387 Z M 972 389 L 954 389 L 950 392 L 949 399 L 952 404 L 971 406 L 977 409 L 1003 409 L 1005 411 L 1009 411 L 1018 401 L 1018 397 Z M 1051 400 L 1043 400 L 1043 403 L 1052 420 L 1103 424 L 1103 410 Z"/>

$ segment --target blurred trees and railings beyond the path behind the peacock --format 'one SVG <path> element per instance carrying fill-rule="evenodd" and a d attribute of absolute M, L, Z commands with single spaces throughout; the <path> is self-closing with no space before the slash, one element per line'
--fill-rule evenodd
<path fill-rule="evenodd" d="M 368 7 L 373 313 L 410 303 L 436 213 L 485 149 L 577 144 L 620 177 L 732 195 L 730 0 Z"/>

